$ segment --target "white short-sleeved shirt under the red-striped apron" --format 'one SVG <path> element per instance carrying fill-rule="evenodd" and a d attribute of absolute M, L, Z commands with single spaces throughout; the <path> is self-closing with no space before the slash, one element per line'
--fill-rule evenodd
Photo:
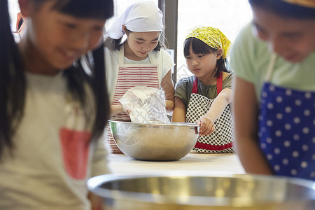
<path fill-rule="evenodd" d="M 106 80 L 107 87 L 109 91 L 109 99 L 113 101 L 113 94 L 115 93 L 116 82 L 118 78 L 118 63 L 119 63 L 119 50 L 111 50 L 109 48 L 105 49 L 105 66 L 106 66 Z M 149 55 L 152 60 L 148 57 L 141 61 L 134 61 L 124 57 L 124 64 L 158 64 L 158 77 L 160 83 L 165 75 L 172 69 L 175 65 L 172 57 L 169 53 L 160 49 L 160 51 L 151 51 Z"/>

